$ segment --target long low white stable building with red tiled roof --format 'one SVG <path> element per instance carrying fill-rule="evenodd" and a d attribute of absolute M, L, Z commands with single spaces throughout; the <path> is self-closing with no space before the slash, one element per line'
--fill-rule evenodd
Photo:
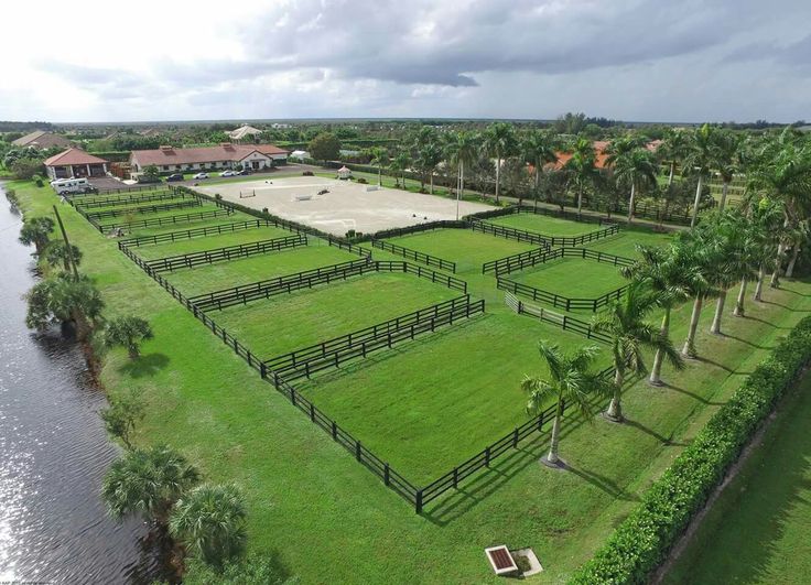
<path fill-rule="evenodd" d="M 286 164 L 288 151 L 272 144 L 231 144 L 197 149 L 161 147 L 155 150 L 133 150 L 130 153 L 132 173 L 142 173 L 147 166 L 156 166 L 160 173 L 187 171 L 218 171 L 250 169 L 261 171 Z"/>

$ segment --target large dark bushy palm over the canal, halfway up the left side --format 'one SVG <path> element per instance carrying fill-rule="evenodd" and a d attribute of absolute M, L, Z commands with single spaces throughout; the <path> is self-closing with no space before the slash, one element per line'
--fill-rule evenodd
<path fill-rule="evenodd" d="M 54 323 L 73 323 L 79 342 L 87 339 L 104 308 L 101 294 L 84 274 L 78 279 L 67 273 L 47 278 L 34 284 L 25 296 L 29 327 L 44 331 Z"/>

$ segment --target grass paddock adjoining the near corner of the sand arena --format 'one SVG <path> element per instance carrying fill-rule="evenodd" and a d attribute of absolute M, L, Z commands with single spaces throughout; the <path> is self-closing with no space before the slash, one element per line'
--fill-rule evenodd
<path fill-rule="evenodd" d="M 435 229 L 386 241 L 456 262 L 457 272 L 482 272 L 482 264 L 488 260 L 538 248 L 471 229 Z"/>

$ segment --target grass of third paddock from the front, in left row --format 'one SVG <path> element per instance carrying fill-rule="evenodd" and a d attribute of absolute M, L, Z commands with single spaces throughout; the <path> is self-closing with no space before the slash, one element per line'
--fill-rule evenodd
<path fill-rule="evenodd" d="M 163 277 L 183 294 L 193 296 L 358 258 L 333 246 L 301 246 L 230 262 L 164 272 Z"/>

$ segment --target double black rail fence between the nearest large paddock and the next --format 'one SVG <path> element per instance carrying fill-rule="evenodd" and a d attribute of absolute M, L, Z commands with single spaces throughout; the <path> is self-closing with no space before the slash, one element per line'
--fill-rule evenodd
<path fill-rule="evenodd" d="M 378 349 L 390 349 L 401 342 L 414 339 L 420 334 L 433 333 L 437 327 L 453 325 L 455 321 L 467 318 L 485 310 L 484 301 L 471 303 L 471 295 L 464 294 L 450 301 L 420 308 L 406 315 L 365 327 L 356 332 L 296 349 L 262 362 L 272 376 L 282 376 L 285 380 L 302 377 L 328 368 L 337 368 L 340 364 L 358 357 L 366 357 Z"/>

